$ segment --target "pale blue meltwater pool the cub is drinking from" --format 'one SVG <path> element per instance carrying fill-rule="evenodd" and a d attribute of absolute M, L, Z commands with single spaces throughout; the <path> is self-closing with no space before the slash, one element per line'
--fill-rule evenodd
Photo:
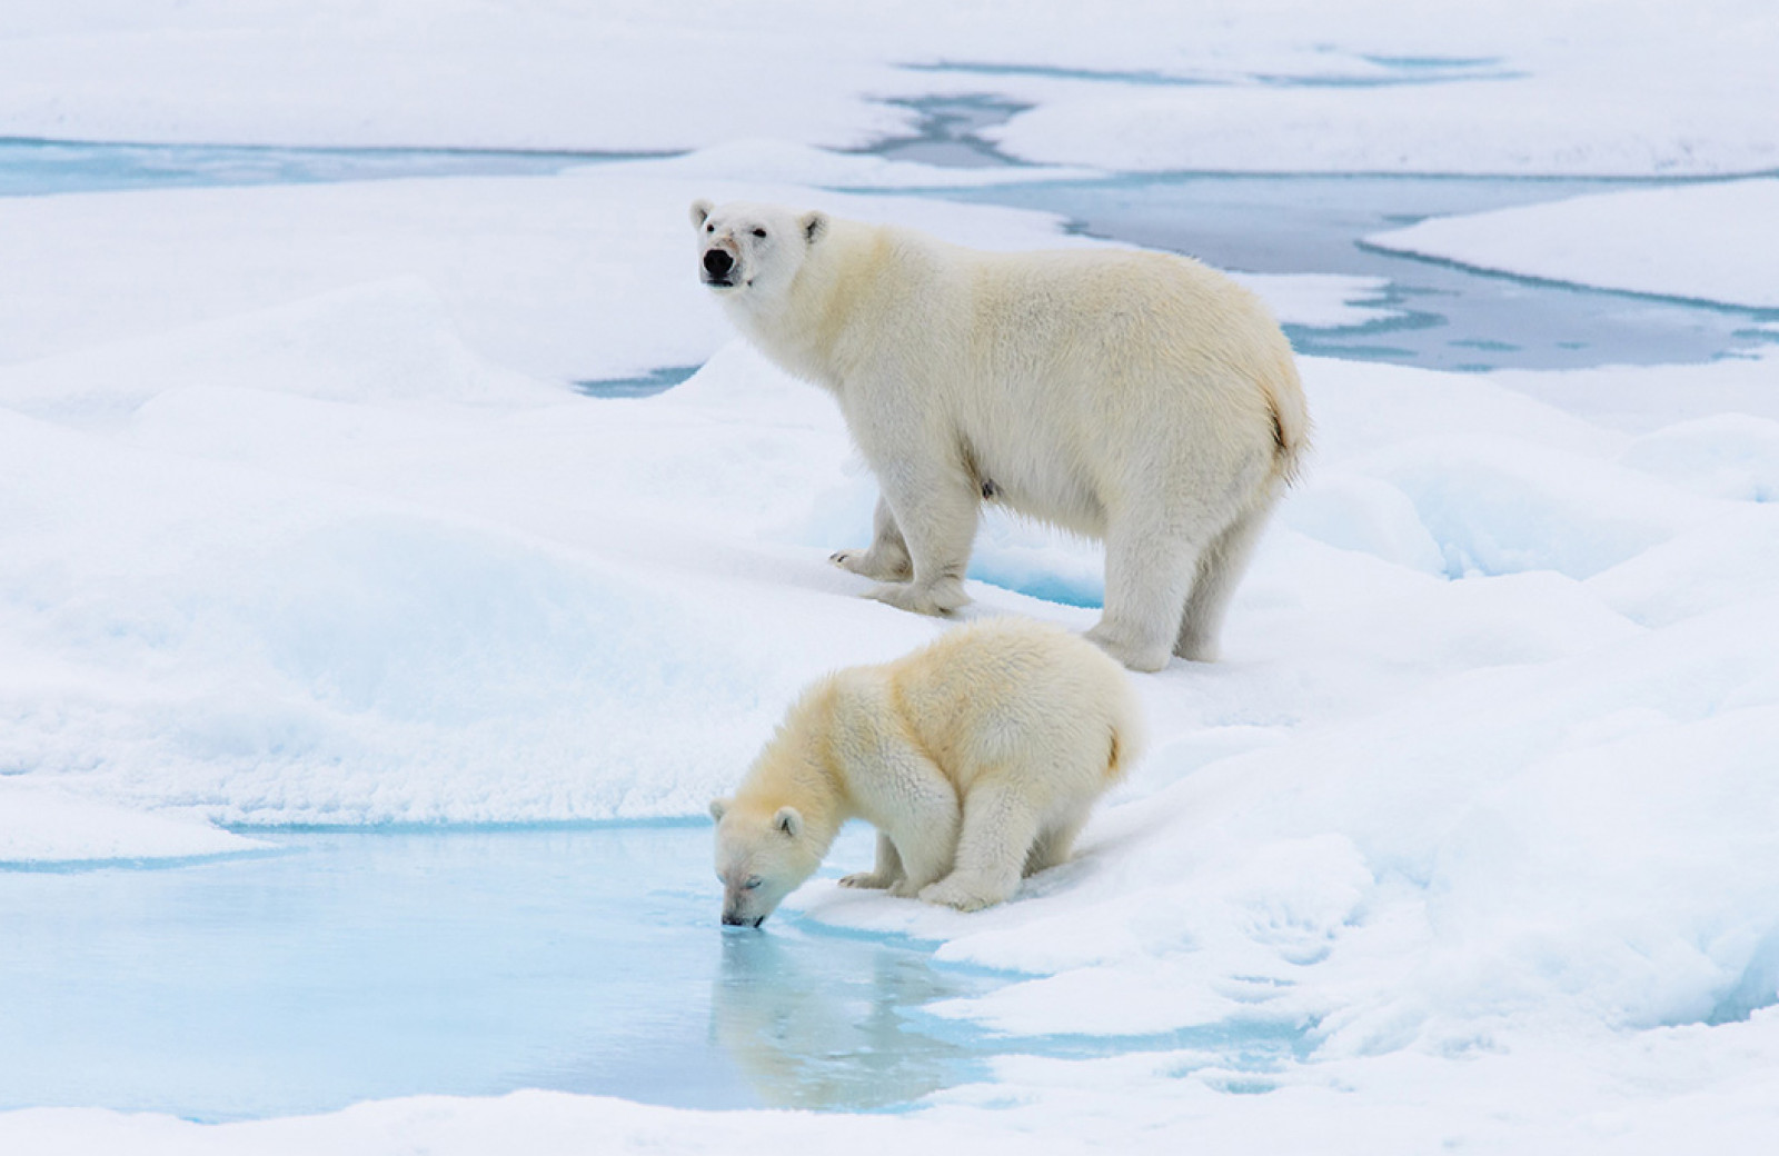
<path fill-rule="evenodd" d="M 836 861 L 868 861 L 849 832 Z M 724 932 L 710 827 L 279 832 L 0 870 L 0 1110 L 226 1120 L 557 1088 L 877 1110 L 980 1078 L 1000 982 L 795 916 Z"/>

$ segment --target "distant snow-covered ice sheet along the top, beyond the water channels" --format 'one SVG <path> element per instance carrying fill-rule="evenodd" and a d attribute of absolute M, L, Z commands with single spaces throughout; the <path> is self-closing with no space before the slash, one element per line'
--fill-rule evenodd
<path fill-rule="evenodd" d="M 984 135 L 1042 164 L 1752 173 L 1775 57 L 1768 0 L 12 0 L 0 135 L 859 148 L 913 132 L 886 101 L 994 92 L 1030 108 Z"/>

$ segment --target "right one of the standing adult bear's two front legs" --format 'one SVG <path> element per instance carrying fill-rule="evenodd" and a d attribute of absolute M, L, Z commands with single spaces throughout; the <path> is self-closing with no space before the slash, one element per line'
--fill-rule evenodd
<path fill-rule="evenodd" d="M 970 605 L 964 571 L 982 512 L 975 478 L 957 462 L 906 462 L 881 471 L 877 480 L 913 576 L 904 585 L 872 587 L 868 596 L 914 614 L 950 614 Z"/>

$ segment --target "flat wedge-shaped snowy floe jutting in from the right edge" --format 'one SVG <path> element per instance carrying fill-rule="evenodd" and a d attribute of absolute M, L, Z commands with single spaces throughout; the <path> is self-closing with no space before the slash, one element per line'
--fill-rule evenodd
<path fill-rule="evenodd" d="M 1743 180 L 1434 217 L 1366 242 L 1550 281 L 1779 309 L 1779 233 L 1758 224 L 1770 221 L 1779 221 L 1779 180 Z"/>

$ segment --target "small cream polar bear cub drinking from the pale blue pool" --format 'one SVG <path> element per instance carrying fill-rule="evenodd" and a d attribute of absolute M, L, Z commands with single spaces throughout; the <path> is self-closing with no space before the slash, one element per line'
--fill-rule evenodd
<path fill-rule="evenodd" d="M 977 911 L 1069 857 L 1135 758 L 1124 672 L 1044 622 L 987 619 L 897 662 L 831 674 L 790 708 L 733 799 L 717 799 L 722 921 L 760 927 L 840 825 L 877 827 L 840 880 Z"/>

